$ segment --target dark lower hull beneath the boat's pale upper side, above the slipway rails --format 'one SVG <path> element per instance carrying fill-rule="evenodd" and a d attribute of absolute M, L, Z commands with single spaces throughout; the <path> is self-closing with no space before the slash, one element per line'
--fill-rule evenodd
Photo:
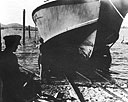
<path fill-rule="evenodd" d="M 53 73 L 74 73 L 78 71 L 86 76 L 95 77 L 96 69 L 109 72 L 111 55 L 108 50 L 94 51 L 90 59 L 79 53 L 79 45 L 96 30 L 97 23 L 71 30 L 54 37 L 44 44 L 42 65 L 44 71 Z M 82 29 L 86 32 L 82 32 Z M 86 34 L 85 34 L 86 33 Z M 72 34 L 74 37 L 72 38 Z M 78 36 L 78 35 L 82 36 Z M 84 38 L 85 37 L 85 38 Z M 104 57 L 105 56 L 105 57 Z"/>

